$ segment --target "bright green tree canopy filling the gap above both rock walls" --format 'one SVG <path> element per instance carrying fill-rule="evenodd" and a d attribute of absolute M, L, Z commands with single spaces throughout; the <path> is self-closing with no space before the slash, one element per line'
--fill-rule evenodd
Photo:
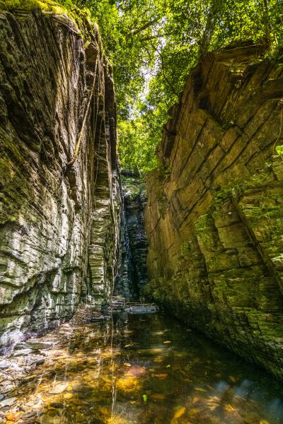
<path fill-rule="evenodd" d="M 114 71 L 121 166 L 140 172 L 156 166 L 167 110 L 204 54 L 246 40 L 276 54 L 283 41 L 283 0 L 74 3 L 88 8 L 100 26 Z"/>

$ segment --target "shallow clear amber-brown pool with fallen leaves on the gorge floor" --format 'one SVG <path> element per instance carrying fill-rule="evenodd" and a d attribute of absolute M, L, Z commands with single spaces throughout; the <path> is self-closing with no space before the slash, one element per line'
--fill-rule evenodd
<path fill-rule="evenodd" d="M 30 422 L 283 423 L 283 384 L 161 315 L 62 326 L 53 360 L 13 395 Z"/>

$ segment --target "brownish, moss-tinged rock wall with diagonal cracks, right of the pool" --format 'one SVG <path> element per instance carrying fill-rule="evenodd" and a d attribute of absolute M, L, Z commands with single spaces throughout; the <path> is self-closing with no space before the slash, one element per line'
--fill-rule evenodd
<path fill-rule="evenodd" d="M 283 73 L 259 47 L 209 54 L 148 179 L 146 293 L 283 377 Z M 281 139 L 279 138 L 281 134 Z"/>

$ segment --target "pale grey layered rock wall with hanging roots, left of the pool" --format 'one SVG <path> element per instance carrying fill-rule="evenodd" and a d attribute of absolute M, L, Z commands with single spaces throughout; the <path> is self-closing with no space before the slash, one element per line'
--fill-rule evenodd
<path fill-rule="evenodd" d="M 85 44 L 66 16 L 0 15 L 0 346 L 112 293 L 115 100 L 88 27 Z"/>

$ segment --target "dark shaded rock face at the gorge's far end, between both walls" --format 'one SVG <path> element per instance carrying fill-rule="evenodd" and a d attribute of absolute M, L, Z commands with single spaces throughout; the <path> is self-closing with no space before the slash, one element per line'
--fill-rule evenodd
<path fill-rule="evenodd" d="M 122 222 L 120 228 L 120 269 L 115 293 L 137 300 L 147 281 L 147 241 L 144 232 L 146 187 L 138 175 L 122 172 Z"/>

